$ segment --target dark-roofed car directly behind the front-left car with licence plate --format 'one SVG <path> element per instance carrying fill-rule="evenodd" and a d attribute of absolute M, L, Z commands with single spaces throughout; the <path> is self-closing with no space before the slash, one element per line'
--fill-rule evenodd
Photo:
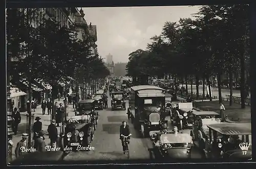
<path fill-rule="evenodd" d="M 95 103 L 96 101 L 93 99 L 80 100 L 78 102 L 78 112 L 75 111 L 75 116 L 81 116 L 81 115 L 92 116 L 92 121 L 95 124 L 94 128 L 96 129 L 99 112 L 95 111 Z"/>

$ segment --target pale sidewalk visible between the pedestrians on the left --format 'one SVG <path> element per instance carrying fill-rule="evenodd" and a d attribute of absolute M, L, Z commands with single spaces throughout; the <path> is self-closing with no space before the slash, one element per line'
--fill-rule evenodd
<path fill-rule="evenodd" d="M 59 101 L 58 101 L 58 99 L 55 99 L 55 101 L 57 101 L 58 104 L 59 103 L 63 104 L 63 98 L 60 98 Z M 68 105 L 67 113 L 69 113 L 69 116 L 74 116 L 75 112 L 73 111 L 73 105 L 71 105 L 71 104 Z M 45 132 L 45 143 L 46 143 L 46 145 L 50 145 L 50 138 L 48 137 L 47 129 L 51 123 L 51 115 L 47 114 L 47 108 L 46 108 L 46 115 L 42 115 L 42 109 L 41 109 L 40 104 L 37 105 L 37 108 L 35 109 L 35 111 L 33 111 L 33 109 L 32 109 L 32 115 L 33 114 L 34 114 L 34 119 L 36 117 L 41 118 L 40 122 L 42 122 L 42 130 Z M 20 124 L 18 125 L 17 135 L 13 135 L 13 138 L 12 138 L 12 142 L 13 142 L 12 159 L 13 160 L 15 159 L 15 148 L 16 148 L 17 143 L 22 139 L 23 133 L 28 133 L 28 131 L 26 130 L 26 122 L 27 122 L 26 115 L 27 115 L 27 111 L 20 112 L 20 116 L 21 116 L 22 120 L 21 120 Z M 60 124 L 60 126 L 61 126 L 61 124 Z M 57 127 L 57 129 L 58 129 L 58 133 L 60 133 L 60 127 Z"/>

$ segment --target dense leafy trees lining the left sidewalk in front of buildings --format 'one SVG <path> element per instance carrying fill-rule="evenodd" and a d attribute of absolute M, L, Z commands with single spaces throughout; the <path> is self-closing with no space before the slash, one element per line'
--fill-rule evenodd
<path fill-rule="evenodd" d="M 61 27 L 53 19 L 42 18 L 35 26 L 38 13 L 38 9 L 7 9 L 7 52 L 8 57 L 17 60 L 9 63 L 8 72 L 12 85 L 28 81 L 30 103 L 33 79 L 54 87 L 60 79 L 68 81 L 72 77 L 78 92 L 78 85 L 110 74 L 98 55 L 92 55 L 90 35 L 79 40 L 75 25 Z M 31 106 L 28 109 L 31 112 Z"/>

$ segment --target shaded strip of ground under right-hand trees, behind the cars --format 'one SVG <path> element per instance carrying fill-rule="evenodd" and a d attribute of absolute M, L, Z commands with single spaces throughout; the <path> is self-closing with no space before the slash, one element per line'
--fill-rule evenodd
<path fill-rule="evenodd" d="M 223 101 L 225 106 L 225 116 L 227 116 L 228 122 L 251 122 L 251 107 L 246 105 L 245 108 L 241 108 L 240 103 L 232 103 L 229 106 L 228 101 Z M 202 111 L 215 111 L 220 113 L 220 103 L 216 101 L 200 101 L 194 102 L 194 106 Z"/>

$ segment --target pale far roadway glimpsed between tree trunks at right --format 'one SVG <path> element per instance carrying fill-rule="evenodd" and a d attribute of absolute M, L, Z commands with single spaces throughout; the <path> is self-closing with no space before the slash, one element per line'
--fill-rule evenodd
<path fill-rule="evenodd" d="M 180 85 L 180 88 L 181 87 L 182 87 L 182 85 Z M 186 86 L 183 85 L 183 87 L 186 87 Z M 193 93 L 197 92 L 196 85 L 193 85 L 192 89 L 193 89 Z M 190 85 L 187 85 L 187 90 L 188 90 L 188 92 L 191 92 L 191 86 Z M 212 91 L 212 96 L 216 96 L 216 97 L 219 98 L 218 88 L 212 88 L 211 91 Z M 206 95 L 206 93 L 207 93 L 207 89 L 205 88 L 205 95 Z M 199 94 L 203 94 L 203 85 L 199 85 Z M 226 98 L 226 95 L 230 95 L 230 90 L 221 89 L 221 94 L 222 94 L 222 97 Z M 241 97 L 240 90 L 233 90 L 233 96 Z M 248 98 L 250 98 L 250 93 L 249 93 Z"/>

